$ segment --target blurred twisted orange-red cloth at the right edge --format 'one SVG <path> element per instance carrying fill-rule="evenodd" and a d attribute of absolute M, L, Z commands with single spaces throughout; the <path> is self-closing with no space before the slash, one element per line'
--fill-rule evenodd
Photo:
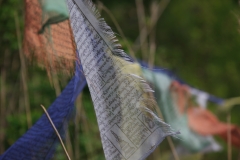
<path fill-rule="evenodd" d="M 230 130 L 231 143 L 236 147 L 240 147 L 239 127 L 222 123 L 210 111 L 202 107 L 194 107 L 195 105 L 190 103 L 189 91 L 186 90 L 186 85 L 181 85 L 177 81 L 174 81 L 172 88 L 174 88 L 176 95 L 178 95 L 179 99 L 177 103 L 179 109 L 187 112 L 188 123 L 192 130 L 203 136 L 218 135 L 226 141 Z"/>

